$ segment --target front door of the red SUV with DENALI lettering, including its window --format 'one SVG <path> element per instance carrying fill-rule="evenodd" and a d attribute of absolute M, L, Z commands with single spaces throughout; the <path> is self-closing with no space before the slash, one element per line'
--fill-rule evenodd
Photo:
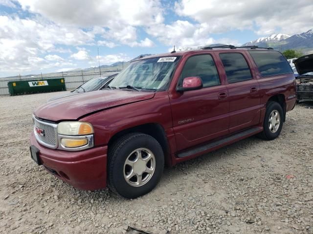
<path fill-rule="evenodd" d="M 170 95 L 177 150 L 228 134 L 228 94 L 210 54 L 189 57 L 183 78 L 200 77 L 203 88 Z"/>

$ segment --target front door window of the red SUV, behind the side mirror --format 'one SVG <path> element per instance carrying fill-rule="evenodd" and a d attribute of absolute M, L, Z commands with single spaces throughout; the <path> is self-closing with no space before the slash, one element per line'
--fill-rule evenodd
<path fill-rule="evenodd" d="M 204 88 L 221 84 L 214 60 L 210 55 L 190 57 L 182 69 L 180 82 L 186 77 L 200 77 Z"/>

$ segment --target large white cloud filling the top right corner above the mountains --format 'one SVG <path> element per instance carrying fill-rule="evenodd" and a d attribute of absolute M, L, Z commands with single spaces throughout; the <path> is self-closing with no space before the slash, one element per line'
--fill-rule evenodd
<path fill-rule="evenodd" d="M 312 28 L 312 0 L 179 0 L 176 13 L 205 25 L 208 33 L 258 28 L 256 33 L 295 34 Z M 296 14 L 295 14 L 296 12 Z"/>

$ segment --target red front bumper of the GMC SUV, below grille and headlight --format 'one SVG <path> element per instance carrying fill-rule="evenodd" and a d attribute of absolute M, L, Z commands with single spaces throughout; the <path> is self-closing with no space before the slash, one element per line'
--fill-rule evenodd
<path fill-rule="evenodd" d="M 107 146 L 76 152 L 54 150 L 39 144 L 33 132 L 30 143 L 40 150 L 41 163 L 54 176 L 82 190 L 106 187 Z"/>

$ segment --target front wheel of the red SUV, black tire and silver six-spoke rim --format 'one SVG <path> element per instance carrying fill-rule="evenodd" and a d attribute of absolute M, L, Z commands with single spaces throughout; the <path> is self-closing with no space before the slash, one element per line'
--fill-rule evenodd
<path fill-rule="evenodd" d="M 131 133 L 116 140 L 108 154 L 108 186 L 125 198 L 136 198 L 156 187 L 164 168 L 164 154 L 157 140 Z"/>

